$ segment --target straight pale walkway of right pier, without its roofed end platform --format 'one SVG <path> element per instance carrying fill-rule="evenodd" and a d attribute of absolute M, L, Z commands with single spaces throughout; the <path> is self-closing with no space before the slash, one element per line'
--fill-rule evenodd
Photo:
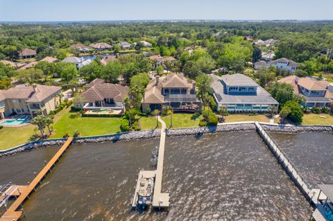
<path fill-rule="evenodd" d="M 311 191 L 311 184 L 309 184 L 309 182 L 307 182 L 307 180 L 301 175 L 295 164 L 293 164 L 293 161 L 289 159 L 287 154 L 282 150 L 282 148 L 280 148 L 278 143 L 274 141 L 274 139 L 270 135 L 268 135 L 268 133 L 265 132 L 260 125 L 257 126 L 257 131 L 260 135 L 262 135 L 268 147 L 273 150 L 273 154 L 275 155 L 275 157 L 277 157 L 278 161 L 280 161 L 280 164 L 284 167 L 284 169 L 287 170 L 287 172 L 291 173 L 292 178 L 295 179 L 296 182 L 303 189 L 303 191 L 305 191 L 305 193 L 309 195 Z"/>

